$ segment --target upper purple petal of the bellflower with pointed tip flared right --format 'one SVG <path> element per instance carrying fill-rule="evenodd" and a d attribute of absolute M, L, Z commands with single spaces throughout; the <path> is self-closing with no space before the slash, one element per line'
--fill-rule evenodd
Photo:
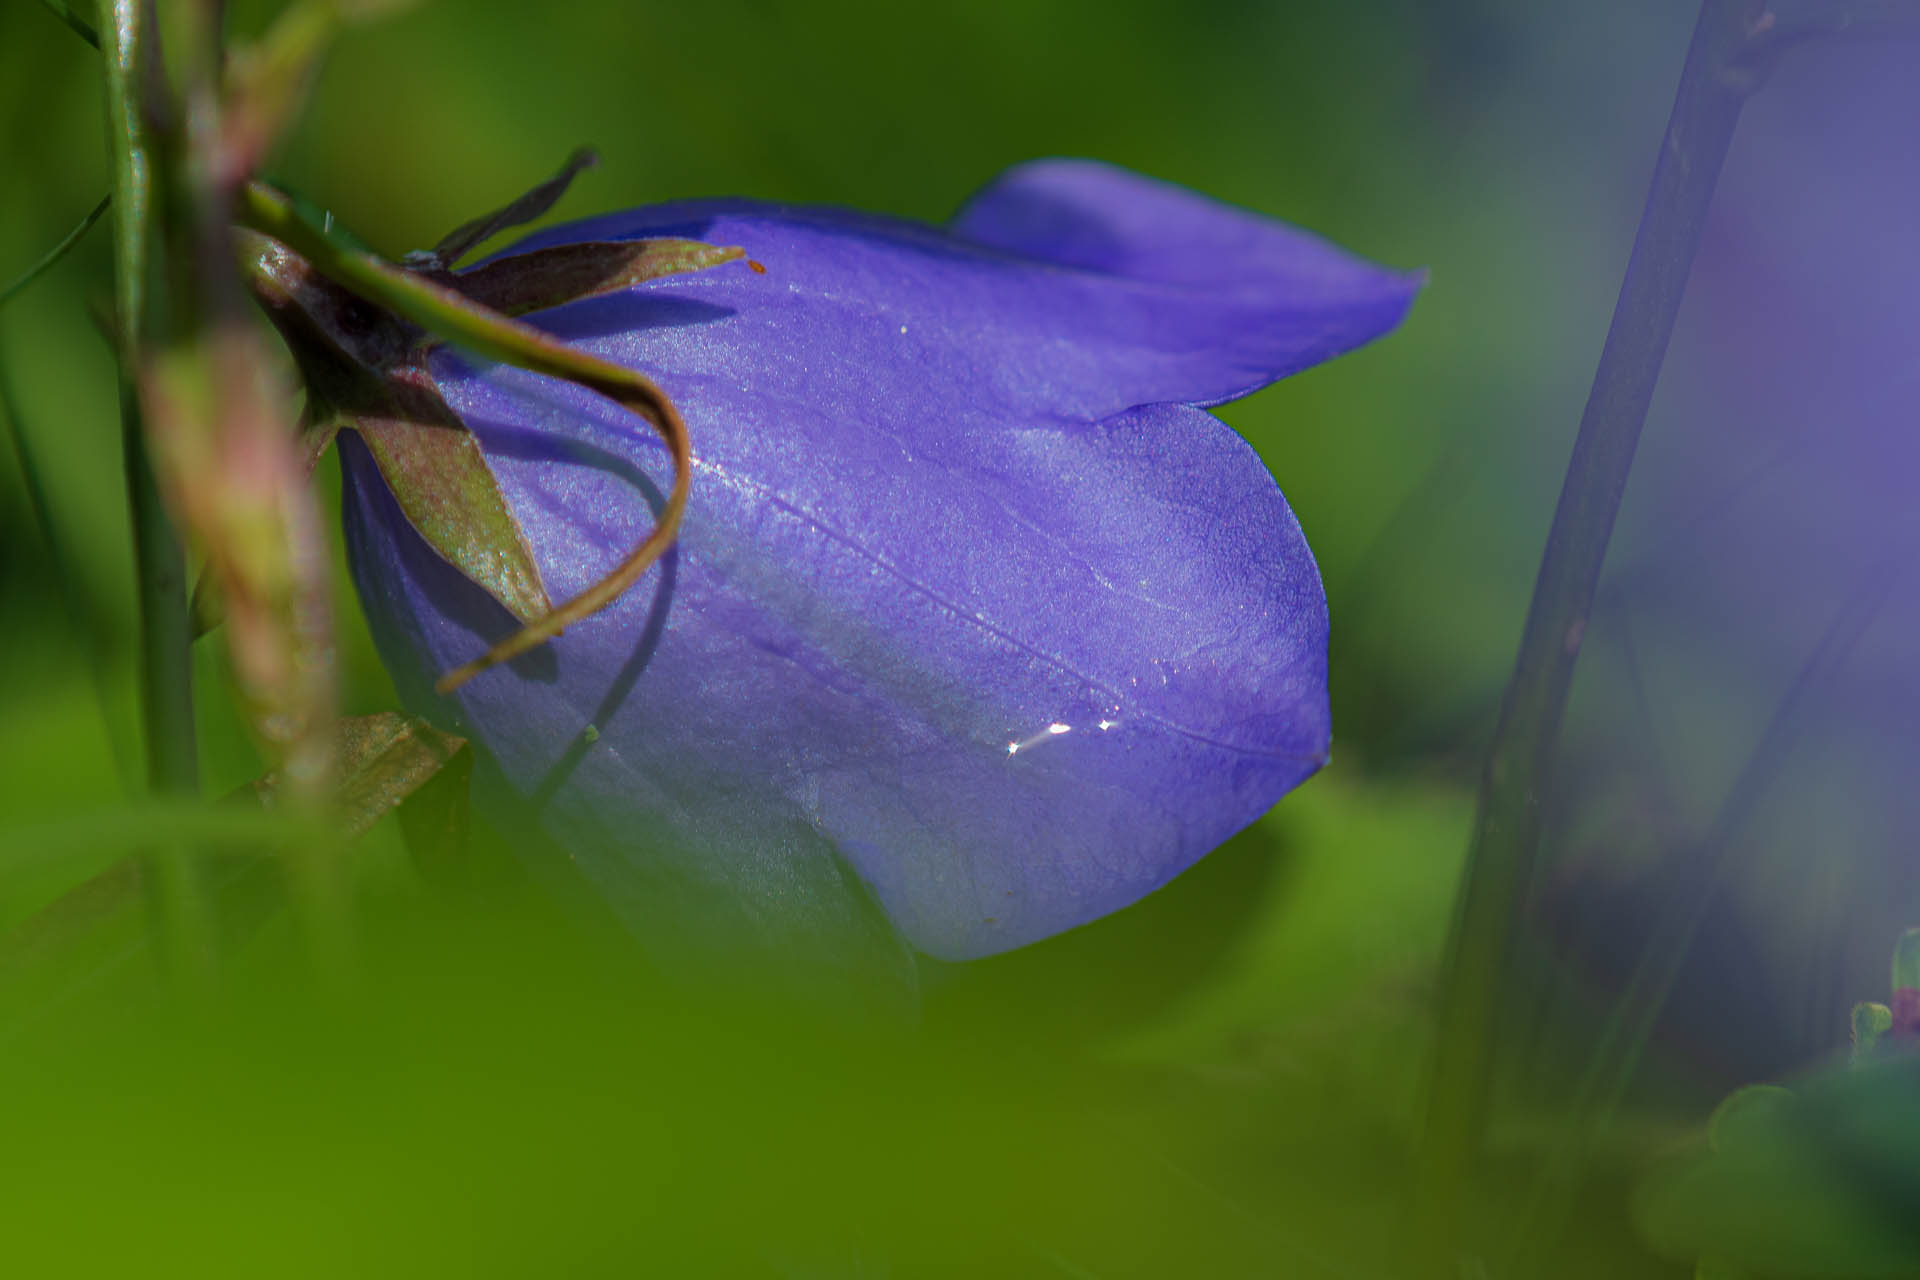
<path fill-rule="evenodd" d="M 1089 169 L 1119 182 L 1117 171 Z M 1083 251 L 1087 261 L 979 240 L 1018 223 L 1016 207 L 1035 207 L 1037 194 L 1016 198 L 1025 173 L 1031 186 L 1048 186 L 1046 167 L 1021 169 L 960 215 L 958 228 L 975 240 L 845 209 L 708 200 L 559 226 L 516 249 L 636 236 L 737 244 L 768 274 L 722 269 L 637 292 L 741 317 L 708 368 L 768 347 L 810 359 L 833 342 L 843 344 L 837 368 L 849 376 L 833 391 L 868 391 L 856 374 L 870 370 L 879 384 L 914 376 L 929 395 L 985 395 L 1014 415 L 1077 418 L 1246 395 L 1388 332 L 1421 286 L 1421 276 L 1142 178 L 1123 186 L 1102 225 L 1112 240 L 1100 253 Z M 996 219 L 996 209 L 1008 217 Z M 672 322 L 634 297 L 576 303 L 543 322 L 568 338 Z M 799 334 L 797 324 L 822 332 Z M 948 359 L 931 361 L 935 349 Z"/>

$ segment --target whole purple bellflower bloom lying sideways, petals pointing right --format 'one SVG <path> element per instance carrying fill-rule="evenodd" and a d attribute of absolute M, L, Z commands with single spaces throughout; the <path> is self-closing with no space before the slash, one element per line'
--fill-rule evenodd
<path fill-rule="evenodd" d="M 346 532 L 403 699 L 451 720 L 628 919 L 791 935 L 872 904 L 968 960 L 1114 912 L 1327 762 L 1327 601 L 1260 457 L 1204 411 L 1400 322 L 1419 278 L 1091 161 L 947 228 L 749 200 L 530 236 L 753 259 L 530 320 L 691 428 L 678 545 L 451 697 L 518 624 L 342 438 Z M 591 391 L 428 361 L 553 599 L 670 478 Z M 897 944 L 895 944 L 897 946 Z"/>

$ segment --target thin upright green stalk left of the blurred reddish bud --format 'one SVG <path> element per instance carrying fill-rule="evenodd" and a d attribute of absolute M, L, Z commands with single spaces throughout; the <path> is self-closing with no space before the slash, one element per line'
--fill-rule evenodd
<path fill-rule="evenodd" d="M 200 789 L 200 745 L 194 731 L 192 631 L 186 608 L 186 560 L 167 518 L 146 455 L 146 430 L 134 370 L 146 349 L 148 249 L 152 244 L 154 159 L 146 127 L 146 83 L 157 59 L 144 29 L 140 0 L 109 0 L 102 36 L 108 83 L 108 150 L 113 177 L 113 313 L 121 367 L 121 449 L 132 516 L 134 580 L 140 601 L 140 720 L 148 785 L 157 793 Z M 213 961 L 211 919 L 190 850 L 148 854 L 146 885 L 169 969 L 196 981 Z"/>

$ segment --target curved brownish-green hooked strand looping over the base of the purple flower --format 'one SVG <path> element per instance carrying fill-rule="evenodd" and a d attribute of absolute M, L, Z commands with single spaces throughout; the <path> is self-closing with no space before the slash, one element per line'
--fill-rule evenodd
<path fill-rule="evenodd" d="M 634 547 L 601 581 L 557 606 L 545 618 L 530 622 L 472 662 L 442 676 L 434 685 L 440 693 L 459 689 L 480 672 L 538 649 L 574 622 L 607 608 L 620 593 L 639 581 L 641 574 L 674 543 L 693 480 L 693 443 L 680 411 L 651 378 L 576 351 L 428 276 L 396 267 L 372 253 L 344 248 L 309 226 L 284 196 L 259 182 L 250 182 L 242 190 L 238 219 L 303 255 L 321 274 L 426 330 L 451 338 L 490 359 L 599 391 L 616 405 L 647 418 L 672 451 L 674 486 L 645 541 Z"/>

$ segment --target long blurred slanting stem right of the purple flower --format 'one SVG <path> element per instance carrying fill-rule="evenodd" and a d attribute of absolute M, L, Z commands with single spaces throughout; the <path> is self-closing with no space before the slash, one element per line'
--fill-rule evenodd
<path fill-rule="evenodd" d="M 1757 83 L 1741 58 L 1745 10 L 1743 0 L 1701 4 L 1486 758 L 1442 969 L 1427 1128 L 1413 1171 L 1413 1245 L 1419 1265 L 1434 1274 L 1457 1270 L 1511 923 L 1532 879 L 1540 804 L 1594 589 L 1720 163 Z"/>

